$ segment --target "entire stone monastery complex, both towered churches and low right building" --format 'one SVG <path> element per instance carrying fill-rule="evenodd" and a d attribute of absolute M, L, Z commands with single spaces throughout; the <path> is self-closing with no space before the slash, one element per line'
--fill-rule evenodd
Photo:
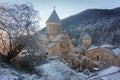
<path fill-rule="evenodd" d="M 39 37 L 39 40 L 44 44 L 45 51 L 49 56 L 61 56 L 70 53 L 77 57 L 83 55 L 99 62 L 102 68 L 111 65 L 120 66 L 120 48 L 109 44 L 93 46 L 92 38 L 88 33 L 84 33 L 82 44 L 75 48 L 69 36 L 61 31 L 61 20 L 54 9 L 46 21 L 46 33 L 40 34 Z"/>

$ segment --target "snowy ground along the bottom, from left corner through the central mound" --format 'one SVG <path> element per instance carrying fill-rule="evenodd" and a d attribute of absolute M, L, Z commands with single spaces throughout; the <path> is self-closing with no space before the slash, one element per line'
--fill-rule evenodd
<path fill-rule="evenodd" d="M 37 74 L 27 74 L 11 66 L 0 63 L 0 80 L 86 80 L 84 74 L 76 73 L 66 64 L 59 61 L 35 67 Z"/>

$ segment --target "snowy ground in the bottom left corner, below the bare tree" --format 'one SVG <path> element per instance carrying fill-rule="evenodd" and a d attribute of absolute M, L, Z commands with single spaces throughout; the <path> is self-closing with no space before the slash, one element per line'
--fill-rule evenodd
<path fill-rule="evenodd" d="M 26 74 L 0 63 L 0 80 L 37 80 L 37 75 Z"/>

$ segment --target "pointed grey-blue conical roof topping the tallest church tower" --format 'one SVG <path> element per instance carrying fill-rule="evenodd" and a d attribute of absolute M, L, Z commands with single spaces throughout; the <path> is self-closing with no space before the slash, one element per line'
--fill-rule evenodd
<path fill-rule="evenodd" d="M 53 10 L 52 14 L 48 18 L 47 22 L 58 22 L 61 23 L 59 16 L 57 15 L 55 9 Z M 47 23 L 46 22 L 46 23 Z"/>

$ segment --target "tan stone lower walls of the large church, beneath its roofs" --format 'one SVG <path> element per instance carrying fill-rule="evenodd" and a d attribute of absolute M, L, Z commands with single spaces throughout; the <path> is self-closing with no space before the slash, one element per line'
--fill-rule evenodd
<path fill-rule="evenodd" d="M 63 41 L 67 42 L 67 46 L 61 46 Z M 71 43 L 68 36 L 64 35 L 61 39 L 59 39 L 56 44 L 51 47 L 47 48 L 48 55 L 61 55 L 63 52 L 67 53 L 75 53 L 74 46 Z"/>

